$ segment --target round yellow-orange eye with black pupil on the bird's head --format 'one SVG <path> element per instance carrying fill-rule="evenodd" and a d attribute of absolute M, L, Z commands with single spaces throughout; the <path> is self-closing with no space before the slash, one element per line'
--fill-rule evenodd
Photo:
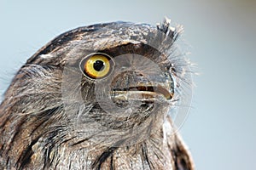
<path fill-rule="evenodd" d="M 101 79 L 108 77 L 113 70 L 113 60 L 107 54 L 90 54 L 82 59 L 80 68 L 85 76 Z"/>

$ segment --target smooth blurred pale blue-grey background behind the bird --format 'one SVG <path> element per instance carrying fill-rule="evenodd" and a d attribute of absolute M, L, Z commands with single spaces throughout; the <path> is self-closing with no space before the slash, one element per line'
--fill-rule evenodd
<path fill-rule="evenodd" d="M 181 128 L 196 169 L 256 169 L 256 1 L 0 0 L 0 92 L 38 48 L 78 26 L 125 20 L 182 24 L 198 65 Z"/>

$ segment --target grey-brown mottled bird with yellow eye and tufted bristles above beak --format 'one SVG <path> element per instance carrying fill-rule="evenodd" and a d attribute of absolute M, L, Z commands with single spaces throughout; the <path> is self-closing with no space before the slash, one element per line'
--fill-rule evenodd
<path fill-rule="evenodd" d="M 195 169 L 172 119 L 191 83 L 182 32 L 116 21 L 40 48 L 3 94 L 0 169 Z"/>

